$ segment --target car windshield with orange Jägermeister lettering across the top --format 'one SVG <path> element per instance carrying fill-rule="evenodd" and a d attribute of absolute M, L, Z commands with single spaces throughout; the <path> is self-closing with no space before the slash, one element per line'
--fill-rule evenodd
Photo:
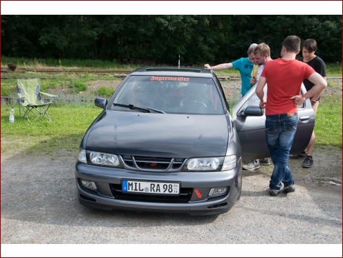
<path fill-rule="evenodd" d="M 120 88 L 111 109 L 144 111 L 144 107 L 159 114 L 223 114 L 224 110 L 213 79 L 131 76 Z"/>

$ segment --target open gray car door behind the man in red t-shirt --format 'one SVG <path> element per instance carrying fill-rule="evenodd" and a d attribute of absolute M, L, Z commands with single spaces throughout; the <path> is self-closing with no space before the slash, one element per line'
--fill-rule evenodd
<path fill-rule="evenodd" d="M 255 93 L 256 85 L 232 108 L 232 119 L 241 141 L 242 160 L 269 157 L 265 139 L 265 109 L 260 109 L 260 100 Z M 267 95 L 267 86 L 264 88 Z M 306 93 L 304 84 L 300 95 Z M 314 111 L 310 100 L 297 107 L 297 132 L 290 153 L 299 153 L 306 149 L 314 129 Z"/>

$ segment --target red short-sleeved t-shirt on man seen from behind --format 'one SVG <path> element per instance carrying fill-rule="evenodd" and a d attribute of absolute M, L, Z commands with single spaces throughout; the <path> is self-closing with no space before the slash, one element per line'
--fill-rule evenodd
<path fill-rule="evenodd" d="M 267 103 L 265 114 L 297 113 L 290 97 L 300 94 L 301 83 L 308 79 L 314 69 L 298 60 L 278 58 L 265 64 L 261 76 L 267 80 Z"/>

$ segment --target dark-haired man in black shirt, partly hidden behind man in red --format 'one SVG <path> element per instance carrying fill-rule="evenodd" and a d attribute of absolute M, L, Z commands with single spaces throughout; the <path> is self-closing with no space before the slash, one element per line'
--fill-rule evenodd
<path fill-rule="evenodd" d="M 321 59 L 321 57 L 318 57 L 317 55 L 314 55 L 314 53 L 317 50 L 317 42 L 314 39 L 307 39 L 302 44 L 302 56 L 300 59 L 298 59 L 301 62 L 306 62 L 309 64 L 310 67 L 314 69 L 318 74 L 321 74 L 323 78 L 326 80 L 326 71 L 325 71 L 325 62 Z M 304 86 L 307 91 L 311 90 L 311 88 L 314 86 L 311 81 L 304 79 L 303 81 Z M 314 109 L 314 115 L 317 113 L 319 100 L 321 93 L 318 95 L 315 95 L 313 97 L 310 97 L 312 108 Z M 302 163 L 303 168 L 311 168 L 311 165 L 313 164 L 312 159 L 312 153 L 314 149 L 314 141 L 316 140 L 316 135 L 314 135 L 314 132 L 312 132 L 311 139 L 309 140 L 309 144 L 307 145 L 307 152 L 302 151 L 300 154 L 294 154 L 290 155 L 290 158 L 305 158 L 304 162 Z"/>

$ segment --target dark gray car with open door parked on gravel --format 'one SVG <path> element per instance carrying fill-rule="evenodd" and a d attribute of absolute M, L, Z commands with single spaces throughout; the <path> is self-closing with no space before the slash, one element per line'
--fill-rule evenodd
<path fill-rule="evenodd" d="M 78 201 L 106 210 L 228 212 L 241 196 L 242 159 L 269 156 L 257 100 L 251 88 L 231 116 L 210 69 L 135 70 L 109 100 L 94 101 L 103 111 L 80 143 Z M 293 152 L 311 137 L 309 100 L 299 119 Z"/>

